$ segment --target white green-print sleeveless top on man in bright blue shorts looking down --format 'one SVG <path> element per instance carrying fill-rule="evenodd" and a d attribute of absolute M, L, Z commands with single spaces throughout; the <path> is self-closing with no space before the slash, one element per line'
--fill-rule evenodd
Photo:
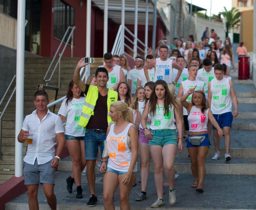
<path fill-rule="evenodd" d="M 211 80 L 211 111 L 213 114 L 231 112 L 232 102 L 230 97 L 229 79 Z"/>

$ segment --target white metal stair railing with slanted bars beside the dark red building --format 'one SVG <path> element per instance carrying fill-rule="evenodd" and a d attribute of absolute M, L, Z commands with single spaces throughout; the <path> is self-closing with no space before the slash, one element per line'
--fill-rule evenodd
<path fill-rule="evenodd" d="M 124 27 L 124 30 L 122 30 L 123 27 Z M 127 32 L 127 35 L 129 34 L 133 39 L 137 40 L 137 43 L 141 44 L 144 49 L 139 47 L 138 44 L 135 43 L 133 40 L 131 40 L 127 35 L 123 34 L 122 31 Z M 122 40 L 124 40 L 124 42 L 122 42 Z M 129 46 L 129 43 L 130 43 L 130 46 Z M 125 50 L 122 51 L 122 49 L 125 49 L 125 48 L 133 52 L 133 58 L 135 58 L 137 55 L 140 55 L 141 53 L 146 56 L 145 52 L 149 50 L 149 47 L 147 47 L 145 43 L 139 40 L 127 27 L 120 25 L 111 54 L 121 55 L 125 53 L 126 55 L 129 55 L 129 53 L 125 52 Z M 134 49 L 137 49 L 136 52 L 134 51 Z M 141 51 L 141 53 L 138 53 L 138 51 Z"/>

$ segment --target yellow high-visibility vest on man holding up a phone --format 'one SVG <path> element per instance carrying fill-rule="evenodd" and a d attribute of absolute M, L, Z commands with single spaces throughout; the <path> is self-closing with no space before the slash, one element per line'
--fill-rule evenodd
<path fill-rule="evenodd" d="M 92 115 L 94 115 L 94 108 L 98 100 L 99 90 L 97 86 L 90 85 L 88 93 L 85 98 L 85 104 L 80 116 L 78 125 L 86 127 Z M 109 89 L 107 93 L 107 124 L 111 125 L 114 123 L 109 116 L 110 104 L 118 100 L 118 94 L 116 91 Z"/>

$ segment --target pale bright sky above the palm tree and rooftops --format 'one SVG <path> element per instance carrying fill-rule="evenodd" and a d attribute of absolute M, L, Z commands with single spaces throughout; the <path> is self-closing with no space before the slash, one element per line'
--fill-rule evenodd
<path fill-rule="evenodd" d="M 191 0 L 186 0 L 188 3 L 191 3 Z M 203 3 L 202 3 L 203 2 Z M 210 7 L 211 7 L 211 15 L 218 15 L 219 12 L 224 10 L 226 7 L 227 10 L 231 10 L 232 2 L 231 0 L 192 0 L 192 4 L 207 9 L 206 14 L 210 16 Z M 202 11 L 205 14 L 205 11 Z"/>

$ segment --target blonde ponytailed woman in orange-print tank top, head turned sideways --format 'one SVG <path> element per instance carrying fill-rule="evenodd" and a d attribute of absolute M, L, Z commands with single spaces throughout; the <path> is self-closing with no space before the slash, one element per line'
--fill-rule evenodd
<path fill-rule="evenodd" d="M 119 186 L 120 209 L 130 209 L 129 195 L 137 177 L 138 132 L 133 124 L 132 109 L 126 103 L 112 103 L 109 116 L 115 123 L 107 128 L 104 151 L 107 150 L 108 157 L 103 157 L 100 168 L 100 172 L 105 173 L 104 207 L 108 210 L 115 209 L 113 198 Z"/>

